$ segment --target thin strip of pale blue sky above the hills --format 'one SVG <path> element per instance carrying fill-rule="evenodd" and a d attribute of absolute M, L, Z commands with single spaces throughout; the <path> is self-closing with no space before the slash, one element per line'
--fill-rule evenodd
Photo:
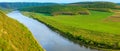
<path fill-rule="evenodd" d="M 0 2 L 54 2 L 54 3 L 73 3 L 83 1 L 110 1 L 120 3 L 120 0 L 0 0 Z"/>

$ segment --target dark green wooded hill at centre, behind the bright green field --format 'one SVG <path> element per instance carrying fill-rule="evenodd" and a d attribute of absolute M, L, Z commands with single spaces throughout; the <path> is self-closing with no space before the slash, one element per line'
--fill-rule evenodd
<path fill-rule="evenodd" d="M 21 11 L 29 11 L 29 12 L 38 12 L 38 13 L 48 13 L 51 15 L 78 15 L 84 14 L 89 15 L 89 11 L 85 8 L 76 7 L 76 6 L 42 6 L 42 7 L 30 7 L 20 9 Z"/>

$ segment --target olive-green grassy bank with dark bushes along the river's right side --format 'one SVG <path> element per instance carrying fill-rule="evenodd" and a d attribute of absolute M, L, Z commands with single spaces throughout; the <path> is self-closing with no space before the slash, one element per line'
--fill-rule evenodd
<path fill-rule="evenodd" d="M 43 22 L 44 24 L 48 25 L 50 28 L 57 30 L 62 33 L 62 35 L 66 36 L 69 39 L 75 39 L 81 41 L 83 44 L 87 44 L 90 46 L 93 46 L 92 48 L 99 47 L 100 49 L 119 49 L 119 34 L 112 34 L 112 33 L 105 33 L 105 32 L 99 32 L 99 31 L 92 31 L 87 29 L 79 29 L 74 26 L 69 26 L 63 24 L 60 21 L 54 20 L 54 18 L 49 18 L 51 16 L 44 16 L 38 13 L 28 13 L 24 12 L 24 15 L 27 15 L 29 17 L 32 17 L 40 22 Z M 105 15 L 104 15 L 105 16 Z M 109 14 L 108 14 L 109 16 Z M 58 18 L 60 18 L 58 16 Z M 63 17 L 62 17 L 63 18 Z M 65 17 L 66 18 L 66 17 Z M 71 17 L 72 18 L 72 17 Z M 73 19 L 74 20 L 74 19 Z M 72 22 L 71 22 L 72 23 Z M 116 39 L 118 38 L 118 39 Z M 118 43 L 116 43 L 116 41 Z M 99 49 L 97 48 L 97 49 Z M 110 51 L 110 50 L 108 50 Z"/>

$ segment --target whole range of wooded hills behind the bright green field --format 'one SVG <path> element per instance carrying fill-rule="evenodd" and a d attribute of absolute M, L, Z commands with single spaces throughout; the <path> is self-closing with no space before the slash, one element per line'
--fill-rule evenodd
<path fill-rule="evenodd" d="M 20 10 L 50 15 L 90 15 L 89 10 L 112 12 L 111 9 L 115 9 L 116 5 L 112 2 L 78 2 L 65 5 L 28 7 Z"/>

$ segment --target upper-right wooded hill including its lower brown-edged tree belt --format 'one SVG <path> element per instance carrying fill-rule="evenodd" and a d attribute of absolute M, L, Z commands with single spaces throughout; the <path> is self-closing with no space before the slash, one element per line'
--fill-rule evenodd
<path fill-rule="evenodd" d="M 112 12 L 112 9 L 119 9 L 117 3 L 113 2 L 76 2 L 67 5 L 72 5 L 76 7 L 83 7 L 89 10 L 102 11 L 102 12 Z"/>

